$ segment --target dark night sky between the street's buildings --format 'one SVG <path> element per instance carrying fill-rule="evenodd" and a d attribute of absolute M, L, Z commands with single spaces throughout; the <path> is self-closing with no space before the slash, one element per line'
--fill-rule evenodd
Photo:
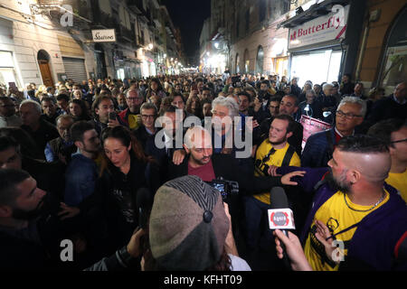
<path fill-rule="evenodd" d="M 166 5 L 175 27 L 181 30 L 186 57 L 198 61 L 199 36 L 204 20 L 211 15 L 211 0 L 162 0 L 161 5 Z"/>

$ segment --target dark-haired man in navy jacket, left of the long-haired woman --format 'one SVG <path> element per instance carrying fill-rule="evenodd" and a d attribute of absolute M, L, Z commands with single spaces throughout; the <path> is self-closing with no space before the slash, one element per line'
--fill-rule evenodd
<path fill-rule="evenodd" d="M 95 190 L 98 179 L 95 160 L 99 155 L 100 139 L 94 126 L 86 121 L 73 124 L 70 132 L 71 141 L 78 152 L 72 154 L 71 163 L 65 172 L 64 201 L 69 206 L 77 207 Z"/>

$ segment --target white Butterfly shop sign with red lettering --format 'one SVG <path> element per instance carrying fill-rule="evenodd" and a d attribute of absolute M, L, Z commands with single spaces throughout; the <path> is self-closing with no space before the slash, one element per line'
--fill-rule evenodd
<path fill-rule="evenodd" d="M 332 13 L 289 29 L 289 49 L 345 38 L 349 5 L 334 5 Z"/>

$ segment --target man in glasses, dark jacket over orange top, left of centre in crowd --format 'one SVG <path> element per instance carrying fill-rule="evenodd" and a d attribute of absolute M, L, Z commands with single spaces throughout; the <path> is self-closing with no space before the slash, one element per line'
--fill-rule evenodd
<path fill-rule="evenodd" d="M 140 107 L 143 100 L 137 89 L 129 89 L 126 94 L 128 108 L 118 114 L 120 123 L 124 123 L 130 129 L 137 129 L 141 125 Z"/>

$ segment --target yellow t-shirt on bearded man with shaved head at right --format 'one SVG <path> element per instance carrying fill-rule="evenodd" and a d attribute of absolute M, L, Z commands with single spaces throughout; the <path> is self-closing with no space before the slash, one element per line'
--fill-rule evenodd
<path fill-rule="evenodd" d="M 308 262 L 315 271 L 336 271 L 339 267 L 331 267 L 323 261 L 324 256 L 326 256 L 326 252 L 325 247 L 318 241 L 317 237 L 315 236 L 317 230 L 315 221 L 319 220 L 326 224 L 331 234 L 335 235 L 345 228 L 349 228 L 352 225 L 360 222 L 368 214 L 383 206 L 383 204 L 390 198 L 390 195 L 387 191 L 385 191 L 385 194 L 386 196 L 384 197 L 383 201 L 373 210 L 369 210 L 370 208 L 372 208 L 372 206 L 360 206 L 354 204 L 351 200 L 349 200 L 347 195 L 345 195 L 346 202 L 351 208 L 355 210 L 369 210 L 355 211 L 349 209 L 349 207 L 346 206 L 344 193 L 342 191 L 336 191 L 336 194 L 334 194 L 317 210 L 317 213 L 315 214 L 313 223 L 311 225 L 311 229 L 308 233 L 306 245 L 304 247 L 304 252 L 307 256 Z M 351 228 L 339 235 L 336 235 L 336 240 L 342 240 L 344 242 L 350 241 L 355 234 L 356 228 L 357 227 Z M 344 248 L 344 256 L 347 256 L 346 247 Z"/>

